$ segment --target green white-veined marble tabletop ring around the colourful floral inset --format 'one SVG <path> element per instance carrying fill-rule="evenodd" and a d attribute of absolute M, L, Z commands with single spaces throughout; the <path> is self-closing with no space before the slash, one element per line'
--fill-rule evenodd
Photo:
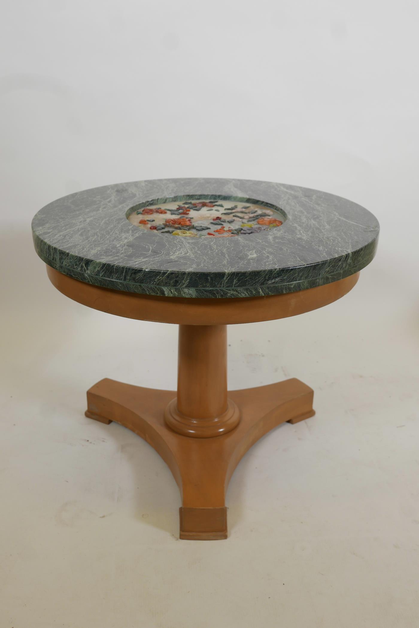
<path fill-rule="evenodd" d="M 199 195 L 259 199 L 287 220 L 268 233 L 227 239 L 157 236 L 126 218 L 151 199 Z M 184 298 L 275 295 L 331 283 L 371 262 L 379 234 L 371 212 L 326 192 L 209 178 L 76 192 L 43 207 L 32 229 L 38 255 L 63 274 L 114 290 Z"/>

